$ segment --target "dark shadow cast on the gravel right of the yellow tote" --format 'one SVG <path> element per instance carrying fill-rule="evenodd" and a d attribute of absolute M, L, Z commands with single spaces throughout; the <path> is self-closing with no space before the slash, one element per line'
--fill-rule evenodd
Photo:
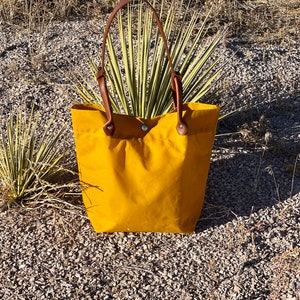
<path fill-rule="evenodd" d="M 261 137 L 251 140 L 251 126 L 259 124 L 262 115 L 267 126 Z M 243 129 L 250 137 L 241 134 Z M 299 96 L 228 118 L 220 122 L 217 133 L 198 232 L 300 192 Z"/>

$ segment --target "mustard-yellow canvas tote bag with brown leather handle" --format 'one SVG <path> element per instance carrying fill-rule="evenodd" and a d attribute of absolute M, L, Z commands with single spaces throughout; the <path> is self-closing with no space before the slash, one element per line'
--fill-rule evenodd
<path fill-rule="evenodd" d="M 153 10 L 171 68 L 174 111 L 151 119 L 112 111 L 105 74 L 97 74 L 103 107 L 71 108 L 82 197 L 96 232 L 191 233 L 199 219 L 219 108 L 183 104 L 159 17 Z M 105 39 L 116 12 L 112 12 Z M 136 99 L 139 101 L 139 99 Z"/>

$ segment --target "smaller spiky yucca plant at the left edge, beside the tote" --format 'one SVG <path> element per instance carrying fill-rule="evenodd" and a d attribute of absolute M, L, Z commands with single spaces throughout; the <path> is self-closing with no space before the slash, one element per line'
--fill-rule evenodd
<path fill-rule="evenodd" d="M 54 118 L 41 132 L 39 115 L 12 112 L 0 136 L 0 200 L 2 205 L 33 200 L 52 189 L 65 155 L 59 139 L 64 127 L 53 130 Z"/>

